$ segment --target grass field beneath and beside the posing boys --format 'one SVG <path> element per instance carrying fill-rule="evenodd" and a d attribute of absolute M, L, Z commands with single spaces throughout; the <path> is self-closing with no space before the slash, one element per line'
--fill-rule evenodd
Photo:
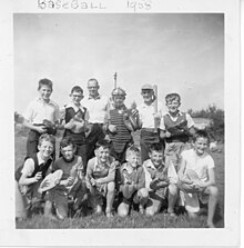
<path fill-rule="evenodd" d="M 26 140 L 19 131 L 16 131 L 16 168 L 21 166 L 26 155 Z M 138 136 L 135 136 L 138 142 Z M 217 228 L 224 227 L 224 146 L 221 145 L 218 152 L 212 156 L 216 166 L 216 183 L 220 189 L 220 200 L 215 212 L 214 221 Z M 26 221 L 17 221 L 20 229 L 82 229 L 82 228 L 205 228 L 206 211 L 204 210 L 195 220 L 189 219 L 187 215 L 179 209 L 177 216 L 172 218 L 163 212 L 153 217 L 146 217 L 135 210 L 126 218 L 116 214 L 113 218 L 104 215 L 88 215 L 80 218 L 68 218 L 65 220 L 50 220 L 42 215 L 33 216 Z"/>

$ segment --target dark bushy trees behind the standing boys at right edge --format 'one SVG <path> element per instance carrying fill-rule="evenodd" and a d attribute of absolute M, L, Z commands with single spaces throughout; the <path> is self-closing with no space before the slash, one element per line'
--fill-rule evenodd
<path fill-rule="evenodd" d="M 209 106 L 207 109 L 187 111 L 193 118 L 207 118 L 211 120 L 206 127 L 211 139 L 224 142 L 224 110 L 216 108 L 215 105 Z"/>

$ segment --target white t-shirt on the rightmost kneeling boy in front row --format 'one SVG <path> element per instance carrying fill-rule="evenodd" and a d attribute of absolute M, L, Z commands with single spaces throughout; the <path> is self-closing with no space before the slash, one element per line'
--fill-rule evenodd
<path fill-rule="evenodd" d="M 183 151 L 182 160 L 185 161 L 185 170 L 194 170 L 202 181 L 206 181 L 209 179 L 207 170 L 215 167 L 214 160 L 209 153 L 205 152 L 200 157 L 196 155 L 194 149 Z"/>

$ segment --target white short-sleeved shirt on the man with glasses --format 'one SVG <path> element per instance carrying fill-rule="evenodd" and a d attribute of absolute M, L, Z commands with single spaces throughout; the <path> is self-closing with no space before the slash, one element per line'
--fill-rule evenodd
<path fill-rule="evenodd" d="M 105 96 L 99 95 L 99 97 L 94 98 L 85 98 L 82 100 L 82 105 L 89 111 L 89 122 L 91 123 L 103 123 L 105 112 L 108 110 L 109 98 Z"/>

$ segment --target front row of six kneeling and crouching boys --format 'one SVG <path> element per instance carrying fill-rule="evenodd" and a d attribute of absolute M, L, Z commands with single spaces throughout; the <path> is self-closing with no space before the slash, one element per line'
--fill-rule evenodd
<path fill-rule="evenodd" d="M 140 165 L 140 149 L 132 145 L 126 150 L 126 162 L 120 165 L 110 156 L 110 143 L 98 142 L 95 157 L 90 159 L 84 171 L 81 157 L 74 155 L 75 146 L 70 137 L 60 143 L 62 157 L 51 165 L 54 138 L 42 135 L 39 152 L 24 161 L 16 175 L 18 183 L 17 217 L 27 217 L 28 204 L 43 194 L 38 192 L 42 179 L 50 172 L 61 169 L 61 180 L 44 195 L 44 215 L 51 216 L 54 206 L 57 217 L 68 217 L 68 201 L 75 199 L 74 209 L 79 210 L 82 200 L 89 199 L 95 212 L 102 212 L 105 202 L 106 217 L 113 216 L 114 198 L 120 199 L 118 215 L 128 216 L 133 204 L 139 205 L 141 214 L 157 214 L 167 200 L 167 215 L 175 216 L 176 202 L 185 206 L 191 217 L 200 210 L 199 200 L 209 202 L 207 226 L 214 227 L 213 216 L 217 204 L 214 161 L 206 152 L 209 138 L 205 131 L 197 131 L 193 149 L 182 152 L 180 168 L 173 163 L 164 165 L 161 143 L 153 143 L 149 157 Z M 51 166 L 50 166 L 51 165 Z M 180 194 L 179 194 L 180 192 Z M 180 199 L 180 200 L 179 200 Z M 206 204 L 206 202 L 205 202 Z"/>

